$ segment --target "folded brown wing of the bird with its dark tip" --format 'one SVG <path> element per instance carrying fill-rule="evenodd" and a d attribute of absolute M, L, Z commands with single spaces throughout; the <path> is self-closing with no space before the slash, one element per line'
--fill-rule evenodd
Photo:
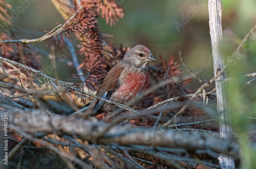
<path fill-rule="evenodd" d="M 101 87 L 99 88 L 96 96 L 99 96 L 103 99 L 109 100 L 111 95 L 117 91 L 120 87 L 119 77 L 124 70 L 124 67 L 117 64 L 113 67 L 109 73 L 106 75 L 105 79 Z M 96 116 L 98 113 L 97 111 L 105 104 L 105 101 L 95 98 L 90 105 L 92 107 L 91 116 Z"/>

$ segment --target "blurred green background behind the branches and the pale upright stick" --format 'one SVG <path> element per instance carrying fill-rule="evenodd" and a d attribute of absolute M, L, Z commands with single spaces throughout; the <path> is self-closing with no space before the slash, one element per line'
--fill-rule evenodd
<path fill-rule="evenodd" d="M 33 31 L 51 31 L 57 23 L 65 22 L 51 1 L 33 0 L 24 12 L 20 11 L 17 19 L 13 23 L 16 39 L 38 38 Z M 12 10 L 21 10 L 22 1 L 7 0 L 12 5 Z M 29 1 L 30 2 L 30 1 Z M 116 25 L 106 25 L 105 20 L 99 18 L 99 29 L 103 34 L 111 34 L 114 46 L 134 46 L 136 44 L 146 45 L 151 49 L 153 55 L 160 62 L 159 54 L 168 61 L 170 55 L 175 54 L 176 61 L 179 62 L 178 51 L 182 50 L 187 65 L 196 70 L 202 66 L 204 59 L 208 58 L 206 68 L 199 74 L 200 77 L 210 79 L 213 77 L 213 66 L 211 57 L 211 42 L 208 24 L 207 1 L 199 0 L 120 0 L 120 5 L 124 7 L 125 13 Z M 256 1 L 227 1 L 223 0 L 223 42 L 221 49 L 226 63 L 231 63 L 227 71 L 227 77 L 232 78 L 227 85 L 227 96 L 231 107 L 231 115 L 234 131 L 244 133 L 253 128 L 255 120 L 245 117 L 255 117 L 256 115 L 256 92 L 255 82 L 248 87 L 243 84 L 251 78 L 245 74 L 256 72 L 256 35 L 253 34 L 244 45 L 245 50 L 237 58 L 231 57 L 244 36 L 256 23 Z M 181 27 L 177 29 L 177 24 Z M 20 33 L 20 30 L 30 30 Z M 47 46 L 50 40 L 34 44 L 37 48 L 46 53 L 50 53 Z M 52 43 L 55 44 L 55 43 Z M 56 51 L 61 50 L 58 45 Z M 42 64 L 47 66 L 50 59 L 47 54 L 41 52 Z M 70 59 L 67 54 L 68 60 Z M 184 73 L 188 73 L 185 67 L 180 67 Z M 74 68 L 65 63 L 59 63 L 58 74 L 61 80 L 69 81 L 71 74 L 76 73 Z M 50 74 L 54 77 L 54 74 Z M 186 88 L 195 91 L 201 86 L 197 79 L 186 85 Z M 212 87 L 210 87 L 212 89 Z M 216 105 L 215 105 L 216 107 Z M 255 125 L 254 125 L 255 128 Z M 246 144 L 246 139 L 241 139 L 244 150 L 244 168 L 256 166 L 255 149 L 250 149 Z"/>

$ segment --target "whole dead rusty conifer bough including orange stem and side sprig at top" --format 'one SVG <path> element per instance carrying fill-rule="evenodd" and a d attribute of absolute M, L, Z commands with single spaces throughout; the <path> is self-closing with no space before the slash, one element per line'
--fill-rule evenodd
<path fill-rule="evenodd" d="M 78 46 L 78 52 L 82 55 L 80 68 L 87 72 L 84 82 L 89 83 L 86 86 L 92 88 L 92 84 L 101 83 L 106 75 L 106 71 L 103 70 L 106 64 L 105 59 L 102 58 L 102 36 L 98 30 L 96 18 L 98 14 L 101 14 L 102 18 L 112 25 L 123 16 L 123 8 L 113 0 L 82 0 L 81 3 L 74 1 L 72 6 L 65 0 L 52 0 L 52 2 L 65 19 L 71 18 L 75 13 L 71 22 L 66 25 L 65 33 L 72 33 L 81 43 Z M 73 12 L 70 13 L 70 11 Z M 66 35 L 69 37 L 68 34 Z M 61 44 L 63 44 L 62 34 L 60 34 L 60 38 Z M 114 55 L 116 54 L 114 53 Z M 112 68 L 113 66 L 108 65 L 108 67 Z"/>

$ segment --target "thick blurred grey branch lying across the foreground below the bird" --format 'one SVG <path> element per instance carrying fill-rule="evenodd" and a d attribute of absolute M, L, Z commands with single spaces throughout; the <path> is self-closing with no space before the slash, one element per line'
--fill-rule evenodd
<path fill-rule="evenodd" d="M 6 110 L 8 111 L 8 110 Z M 0 111 L 0 121 L 3 122 L 4 111 Z M 46 112 L 38 110 L 9 111 L 9 130 L 18 127 L 27 133 L 48 133 L 57 135 L 76 135 L 92 143 L 106 144 L 118 143 L 120 145 L 145 145 L 160 147 L 182 147 L 187 150 L 211 150 L 216 153 L 237 155 L 238 144 L 229 139 L 206 137 L 197 133 L 180 132 L 175 130 L 157 128 L 133 128 L 130 126 L 113 126 L 100 138 L 105 128 L 109 126 L 104 122 L 93 122 L 62 116 L 48 116 Z M 98 138 L 98 139 L 97 139 Z M 195 142 L 195 140 L 197 140 Z"/>

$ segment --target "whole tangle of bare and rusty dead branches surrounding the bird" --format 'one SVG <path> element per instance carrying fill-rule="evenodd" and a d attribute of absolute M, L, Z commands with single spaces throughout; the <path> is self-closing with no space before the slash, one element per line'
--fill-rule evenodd
<path fill-rule="evenodd" d="M 219 154 L 239 161 L 238 144 L 219 137 L 216 110 L 206 106 L 216 100 L 213 83 L 219 75 L 202 80 L 200 70 L 192 71 L 181 52 L 180 61 L 189 73 L 183 73 L 175 55 L 167 57 L 167 62 L 160 55 L 161 62 L 148 68 L 151 88 L 138 96 L 142 101 L 135 107 L 99 98 L 118 109 L 96 118 L 69 118 L 97 97 L 92 90 L 98 89 L 106 72 L 130 47 L 113 46 L 97 25 L 98 17 L 110 25 L 123 17 L 118 1 L 52 2 L 65 22 L 45 35 L 16 40 L 10 30 L 0 32 L 0 121 L 8 112 L 9 161 L 18 167 L 35 167 L 42 163 L 38 157 L 47 156 L 46 166 L 56 168 L 219 168 Z M 11 25 L 10 7 L 0 0 L 0 19 L 7 25 Z M 58 73 L 51 77 L 42 66 L 40 52 L 32 43 L 47 40 L 53 45 L 60 40 L 59 48 L 69 49 L 77 71 L 72 82 L 59 80 Z M 58 58 L 54 47 L 50 49 L 51 53 L 42 53 L 49 55 L 53 71 L 57 72 L 56 62 L 71 62 Z M 195 92 L 184 87 L 193 78 L 202 83 Z M 5 161 L 0 160 L 1 167 Z"/>

